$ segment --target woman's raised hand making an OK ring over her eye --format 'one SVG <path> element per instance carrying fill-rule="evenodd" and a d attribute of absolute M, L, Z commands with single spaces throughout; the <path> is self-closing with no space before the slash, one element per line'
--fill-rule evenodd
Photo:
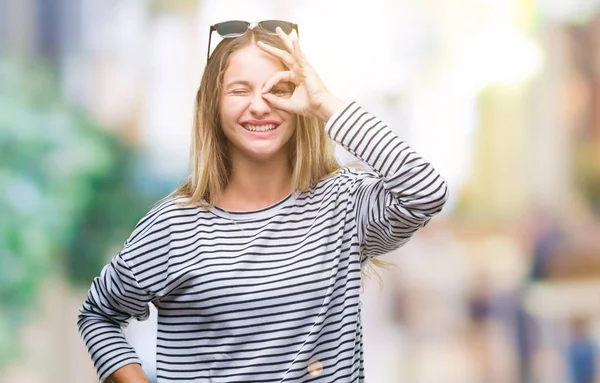
<path fill-rule="evenodd" d="M 327 90 L 316 71 L 300 49 L 298 37 L 288 36 L 281 28 L 276 29 L 277 35 L 283 41 L 287 52 L 262 41 L 258 47 L 281 60 L 289 70 L 277 72 L 265 84 L 263 98 L 273 107 L 290 113 L 308 115 L 328 120 L 343 103 Z M 271 89 L 280 82 L 291 82 L 296 88 L 289 98 L 271 94 Z"/>

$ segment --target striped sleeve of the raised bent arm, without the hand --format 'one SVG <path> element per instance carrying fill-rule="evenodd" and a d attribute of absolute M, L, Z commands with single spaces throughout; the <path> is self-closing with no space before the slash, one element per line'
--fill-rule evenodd
<path fill-rule="evenodd" d="M 448 198 L 446 181 L 356 102 L 337 111 L 325 129 L 372 169 L 357 175 L 351 191 L 361 263 L 399 248 L 442 210 Z"/>

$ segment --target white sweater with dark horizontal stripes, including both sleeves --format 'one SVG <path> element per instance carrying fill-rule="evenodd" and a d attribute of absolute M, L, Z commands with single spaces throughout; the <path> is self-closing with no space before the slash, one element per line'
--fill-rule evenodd
<path fill-rule="evenodd" d="M 170 199 L 95 278 L 78 326 L 103 381 L 140 363 L 122 328 L 158 310 L 158 382 L 363 382 L 361 267 L 446 201 L 444 179 L 351 102 L 327 134 L 367 163 L 267 208 Z"/>

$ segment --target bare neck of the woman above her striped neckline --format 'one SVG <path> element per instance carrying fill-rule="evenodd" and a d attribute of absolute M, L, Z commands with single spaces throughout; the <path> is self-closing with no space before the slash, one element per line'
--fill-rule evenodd
<path fill-rule="evenodd" d="M 217 203 L 222 209 L 259 210 L 292 192 L 292 169 L 287 155 L 264 162 L 232 158 L 231 165 L 229 183 Z"/>

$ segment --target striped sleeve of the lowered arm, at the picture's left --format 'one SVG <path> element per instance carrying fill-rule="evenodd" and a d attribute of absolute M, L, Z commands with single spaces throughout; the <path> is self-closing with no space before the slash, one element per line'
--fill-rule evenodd
<path fill-rule="evenodd" d="M 146 320 L 149 303 L 164 294 L 167 262 L 160 260 L 169 251 L 169 231 L 164 220 L 156 221 L 147 215 L 136 226 L 124 249 L 94 279 L 80 309 L 79 332 L 101 382 L 127 364 L 141 365 L 123 329 L 132 318 Z"/>

